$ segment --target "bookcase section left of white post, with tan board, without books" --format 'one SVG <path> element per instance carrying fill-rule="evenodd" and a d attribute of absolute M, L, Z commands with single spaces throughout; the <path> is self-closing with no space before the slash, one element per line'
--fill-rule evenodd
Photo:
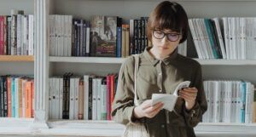
<path fill-rule="evenodd" d="M 1 0 L 0 15 L 10 15 L 12 9 L 34 14 L 34 0 Z M 34 75 L 33 55 L 0 55 L 0 76 Z M 34 118 L 0 117 L 0 134 L 30 134 Z M 14 132 L 15 131 L 15 132 Z"/>

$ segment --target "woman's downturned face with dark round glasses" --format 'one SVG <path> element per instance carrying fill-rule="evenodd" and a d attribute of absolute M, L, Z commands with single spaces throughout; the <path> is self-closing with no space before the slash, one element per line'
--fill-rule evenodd
<path fill-rule="evenodd" d="M 153 50 L 162 56 L 172 54 L 177 48 L 182 35 L 172 30 L 154 30 L 152 31 Z"/>

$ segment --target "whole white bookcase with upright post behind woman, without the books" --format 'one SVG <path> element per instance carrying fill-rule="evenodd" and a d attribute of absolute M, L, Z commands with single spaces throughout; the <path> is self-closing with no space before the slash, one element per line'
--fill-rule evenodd
<path fill-rule="evenodd" d="M 177 1 L 186 9 L 189 18 L 255 16 L 256 0 Z M 67 71 L 72 71 L 78 76 L 82 76 L 85 73 L 95 73 L 98 75 L 117 73 L 124 59 L 49 56 L 47 18 L 49 14 L 72 14 L 74 17 L 90 20 L 90 15 L 92 14 L 108 14 L 118 15 L 127 21 L 141 16 L 148 16 L 149 12 L 159 2 L 159 0 L 22 0 L 22 2 L 20 0 L 3 0 L 4 4 L 0 5 L 1 14 L 9 14 L 10 9 L 15 8 L 24 9 L 30 14 L 35 14 L 35 39 L 37 40 L 35 41 L 35 45 L 37 46 L 35 49 L 36 56 L 26 57 L 30 59 L 29 61 L 22 60 L 20 62 L 20 60 L 15 59 L 16 57 L 12 59 L 9 57 L 1 59 L 0 57 L 0 74 L 15 71 L 22 71 L 24 74 L 35 74 L 35 91 L 37 92 L 35 94 L 35 118 L 0 118 L 0 134 L 120 136 L 124 126 L 118 123 L 109 121 L 49 119 L 47 101 L 49 97 L 49 77 L 61 76 Z M 35 9 L 33 9 L 34 7 Z M 15 63 L 9 60 L 15 60 Z M 256 60 L 198 61 L 202 65 L 204 79 L 246 79 L 256 84 Z M 23 67 L 24 64 L 25 66 Z M 15 66 L 16 69 L 9 69 Z M 195 128 L 195 133 L 201 137 L 222 135 L 237 137 L 246 135 L 253 137 L 256 134 L 256 125 L 255 123 L 200 123 Z"/>

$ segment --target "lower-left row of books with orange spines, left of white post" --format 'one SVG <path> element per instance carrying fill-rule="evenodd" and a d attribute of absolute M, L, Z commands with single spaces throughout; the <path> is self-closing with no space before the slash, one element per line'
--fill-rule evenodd
<path fill-rule="evenodd" d="M 34 117 L 32 77 L 0 76 L 0 117 Z"/>

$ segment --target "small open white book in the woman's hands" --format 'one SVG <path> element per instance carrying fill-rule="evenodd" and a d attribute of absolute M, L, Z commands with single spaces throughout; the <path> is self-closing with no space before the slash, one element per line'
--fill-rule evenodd
<path fill-rule="evenodd" d="M 189 84 L 189 81 L 179 83 L 175 88 L 173 94 L 152 94 L 152 106 L 154 106 L 158 102 L 162 102 L 164 103 L 164 109 L 166 109 L 167 111 L 172 111 L 177 101 L 178 91 L 182 88 L 188 88 Z"/>

